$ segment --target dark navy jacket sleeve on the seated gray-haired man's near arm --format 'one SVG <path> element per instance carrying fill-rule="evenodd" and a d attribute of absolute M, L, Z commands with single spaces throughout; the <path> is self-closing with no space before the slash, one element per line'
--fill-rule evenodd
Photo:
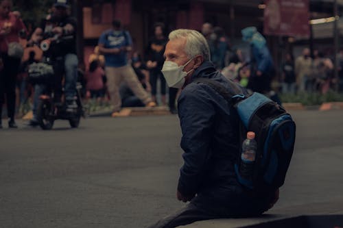
<path fill-rule="evenodd" d="M 189 196 L 196 194 L 210 158 L 215 110 L 204 85 L 189 85 L 178 101 L 182 129 L 181 148 L 184 164 L 180 168 L 178 191 Z M 205 90 L 204 90 L 205 88 Z"/>

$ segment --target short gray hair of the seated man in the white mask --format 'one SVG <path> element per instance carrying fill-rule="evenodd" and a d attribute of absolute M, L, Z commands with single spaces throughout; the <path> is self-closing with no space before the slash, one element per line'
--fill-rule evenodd
<path fill-rule="evenodd" d="M 209 44 L 200 32 L 192 29 L 176 29 L 171 31 L 169 40 L 178 38 L 186 39 L 185 52 L 189 58 L 193 58 L 196 55 L 202 55 L 204 61 L 211 60 Z"/>

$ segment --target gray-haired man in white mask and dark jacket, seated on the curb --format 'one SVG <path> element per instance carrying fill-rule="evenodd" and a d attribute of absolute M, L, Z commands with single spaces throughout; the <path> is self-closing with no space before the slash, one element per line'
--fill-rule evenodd
<path fill-rule="evenodd" d="M 231 82 L 210 61 L 206 39 L 195 30 L 171 31 L 164 55 L 162 72 L 168 86 L 182 88 L 178 116 L 184 164 L 180 168 L 176 197 L 189 203 L 150 228 L 265 212 L 277 201 L 279 193 L 257 196 L 239 184 L 233 165 L 239 153 L 239 117 L 209 84 L 197 81 L 199 78 L 217 81 L 233 92 Z M 239 88 L 246 94 L 244 88 Z"/>

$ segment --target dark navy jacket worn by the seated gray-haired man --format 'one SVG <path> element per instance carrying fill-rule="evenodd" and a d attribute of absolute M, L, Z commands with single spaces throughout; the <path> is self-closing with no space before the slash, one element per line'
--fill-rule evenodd
<path fill-rule="evenodd" d="M 227 79 L 211 62 L 204 62 L 193 73 L 192 80 L 198 77 L 219 81 L 231 90 Z M 185 152 L 178 191 L 186 196 L 197 194 L 192 202 L 206 208 L 239 207 L 245 191 L 234 171 L 239 153 L 237 112 L 209 85 L 191 82 L 178 99 L 178 115 Z"/>

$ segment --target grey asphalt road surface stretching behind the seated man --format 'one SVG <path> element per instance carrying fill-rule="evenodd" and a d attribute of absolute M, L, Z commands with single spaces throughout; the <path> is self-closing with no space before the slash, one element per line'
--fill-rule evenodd
<path fill-rule="evenodd" d="M 343 111 L 291 114 L 296 149 L 270 213 L 337 210 Z M 177 116 L 87 118 L 78 129 L 56 121 L 51 131 L 18 123 L 0 129 L 0 227 L 146 227 L 182 207 Z"/>

